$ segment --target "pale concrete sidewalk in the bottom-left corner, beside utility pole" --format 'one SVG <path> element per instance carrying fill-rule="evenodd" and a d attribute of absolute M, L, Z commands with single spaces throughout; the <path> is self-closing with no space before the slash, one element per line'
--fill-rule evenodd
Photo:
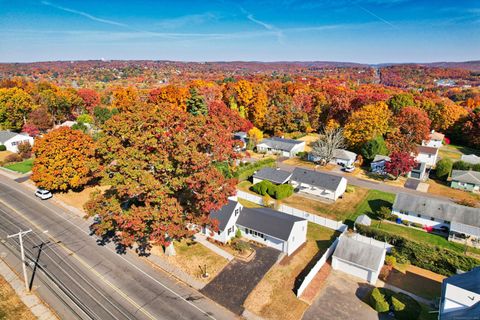
<path fill-rule="evenodd" d="M 0 260 L 0 275 L 12 286 L 17 296 L 32 311 L 33 315 L 39 320 L 56 320 L 57 317 L 53 312 L 46 307 L 40 298 L 34 293 L 28 293 L 25 289 L 25 284 L 20 278 L 3 262 Z"/>

